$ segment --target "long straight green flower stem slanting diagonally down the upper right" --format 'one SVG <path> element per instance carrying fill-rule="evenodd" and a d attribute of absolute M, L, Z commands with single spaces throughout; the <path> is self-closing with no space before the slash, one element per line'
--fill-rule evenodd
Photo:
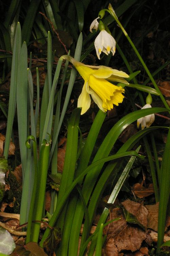
<path fill-rule="evenodd" d="M 138 50 L 136 49 L 134 43 L 133 43 L 132 40 L 130 39 L 128 33 L 127 33 L 127 32 L 125 31 L 125 29 L 123 28 L 123 26 L 122 26 L 122 24 L 120 23 L 119 19 L 117 18 L 117 16 L 116 16 L 116 14 L 115 14 L 115 12 L 114 12 L 114 10 L 113 10 L 111 4 L 109 4 L 108 9 L 109 9 L 109 13 L 114 17 L 114 19 L 116 20 L 117 24 L 119 25 L 119 27 L 120 27 L 121 30 L 123 31 L 125 37 L 128 39 L 129 43 L 131 44 L 132 48 L 134 49 L 134 51 L 135 51 L 135 53 L 136 53 L 138 59 L 140 60 L 140 62 L 141 62 L 141 64 L 142 64 L 143 68 L 146 70 L 146 72 L 147 72 L 147 74 L 148 74 L 148 76 L 149 76 L 151 82 L 153 83 L 155 89 L 158 91 L 158 93 L 160 93 L 160 98 L 161 98 L 162 102 L 164 103 L 165 107 L 166 107 L 168 110 L 170 110 L 170 107 L 168 106 L 168 103 L 166 102 L 166 100 L 165 100 L 164 96 L 162 95 L 161 91 L 159 90 L 159 87 L 158 87 L 157 84 L 155 83 L 155 80 L 153 79 L 153 77 L 152 77 L 152 75 L 151 75 L 149 69 L 147 68 L 145 62 L 143 61 L 143 59 L 142 59 L 142 57 L 141 57 L 141 55 L 139 54 Z"/>

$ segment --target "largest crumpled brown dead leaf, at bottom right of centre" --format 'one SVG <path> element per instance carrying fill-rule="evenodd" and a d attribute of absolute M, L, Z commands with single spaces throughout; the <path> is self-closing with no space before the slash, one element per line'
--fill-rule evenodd
<path fill-rule="evenodd" d="M 120 208 L 111 210 L 111 219 L 121 218 L 118 221 L 112 222 L 108 227 L 104 228 L 104 233 L 111 236 L 115 240 L 115 245 L 118 252 L 122 250 L 131 250 L 132 252 L 138 250 L 142 241 L 146 238 L 147 232 L 141 228 L 132 226 L 125 221 L 123 212 Z M 107 219 L 108 221 L 108 219 Z"/>

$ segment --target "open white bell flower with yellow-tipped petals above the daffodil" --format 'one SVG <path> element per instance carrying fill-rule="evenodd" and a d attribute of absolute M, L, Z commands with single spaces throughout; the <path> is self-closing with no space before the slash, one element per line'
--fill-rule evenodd
<path fill-rule="evenodd" d="M 95 48 L 98 59 L 100 59 L 101 52 L 106 55 L 112 52 L 114 55 L 116 51 L 116 41 L 106 30 L 101 30 L 95 39 Z"/>

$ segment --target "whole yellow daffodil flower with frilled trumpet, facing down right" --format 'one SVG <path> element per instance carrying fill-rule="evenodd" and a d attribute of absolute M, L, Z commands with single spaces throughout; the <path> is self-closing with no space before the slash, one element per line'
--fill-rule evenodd
<path fill-rule="evenodd" d="M 129 84 L 124 79 L 129 77 L 128 74 L 105 66 L 85 65 L 68 55 L 61 58 L 69 60 L 84 79 L 83 89 L 78 98 L 78 108 L 82 108 L 81 115 L 89 109 L 91 98 L 103 112 L 111 110 L 113 105 L 118 106 L 123 101 L 124 89 L 108 81 Z"/>

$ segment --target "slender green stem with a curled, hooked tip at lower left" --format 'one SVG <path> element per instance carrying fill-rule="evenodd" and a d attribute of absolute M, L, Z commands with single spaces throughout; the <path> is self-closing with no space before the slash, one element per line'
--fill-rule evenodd
<path fill-rule="evenodd" d="M 36 190 L 37 190 L 37 184 L 38 184 L 37 143 L 34 136 L 28 136 L 26 141 L 27 148 L 31 148 L 31 145 L 29 142 L 30 140 L 32 140 L 35 174 L 34 174 L 34 187 L 33 187 L 31 204 L 30 204 L 30 212 L 28 217 L 26 243 L 29 243 L 31 239 L 31 228 L 32 228 L 33 213 L 34 213 L 34 204 L 35 204 Z"/>

